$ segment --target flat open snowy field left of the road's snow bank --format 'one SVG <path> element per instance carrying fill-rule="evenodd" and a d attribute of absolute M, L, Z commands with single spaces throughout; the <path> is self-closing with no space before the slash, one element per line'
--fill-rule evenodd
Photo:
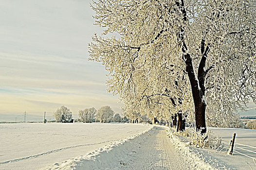
<path fill-rule="evenodd" d="M 0 124 L 0 170 L 44 169 L 150 128 L 123 123 Z"/>

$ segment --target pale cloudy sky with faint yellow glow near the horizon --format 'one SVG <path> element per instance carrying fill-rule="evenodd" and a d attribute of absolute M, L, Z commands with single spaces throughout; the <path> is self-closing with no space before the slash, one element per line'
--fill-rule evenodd
<path fill-rule="evenodd" d="M 106 92 L 104 67 L 88 61 L 91 36 L 101 33 L 90 1 L 1 0 L 0 121 L 22 121 L 24 111 L 29 121 L 42 120 L 44 111 L 53 119 L 61 105 L 74 118 L 105 105 L 122 113 L 117 96 Z"/>

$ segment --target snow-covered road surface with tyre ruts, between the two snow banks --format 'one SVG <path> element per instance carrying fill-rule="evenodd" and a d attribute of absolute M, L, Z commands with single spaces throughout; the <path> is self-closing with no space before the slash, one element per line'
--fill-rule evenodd
<path fill-rule="evenodd" d="M 154 127 L 145 135 L 134 139 L 134 153 L 123 169 L 128 170 L 186 170 L 187 162 L 171 144 L 165 127 Z M 142 142 L 141 142 L 142 141 Z"/>

